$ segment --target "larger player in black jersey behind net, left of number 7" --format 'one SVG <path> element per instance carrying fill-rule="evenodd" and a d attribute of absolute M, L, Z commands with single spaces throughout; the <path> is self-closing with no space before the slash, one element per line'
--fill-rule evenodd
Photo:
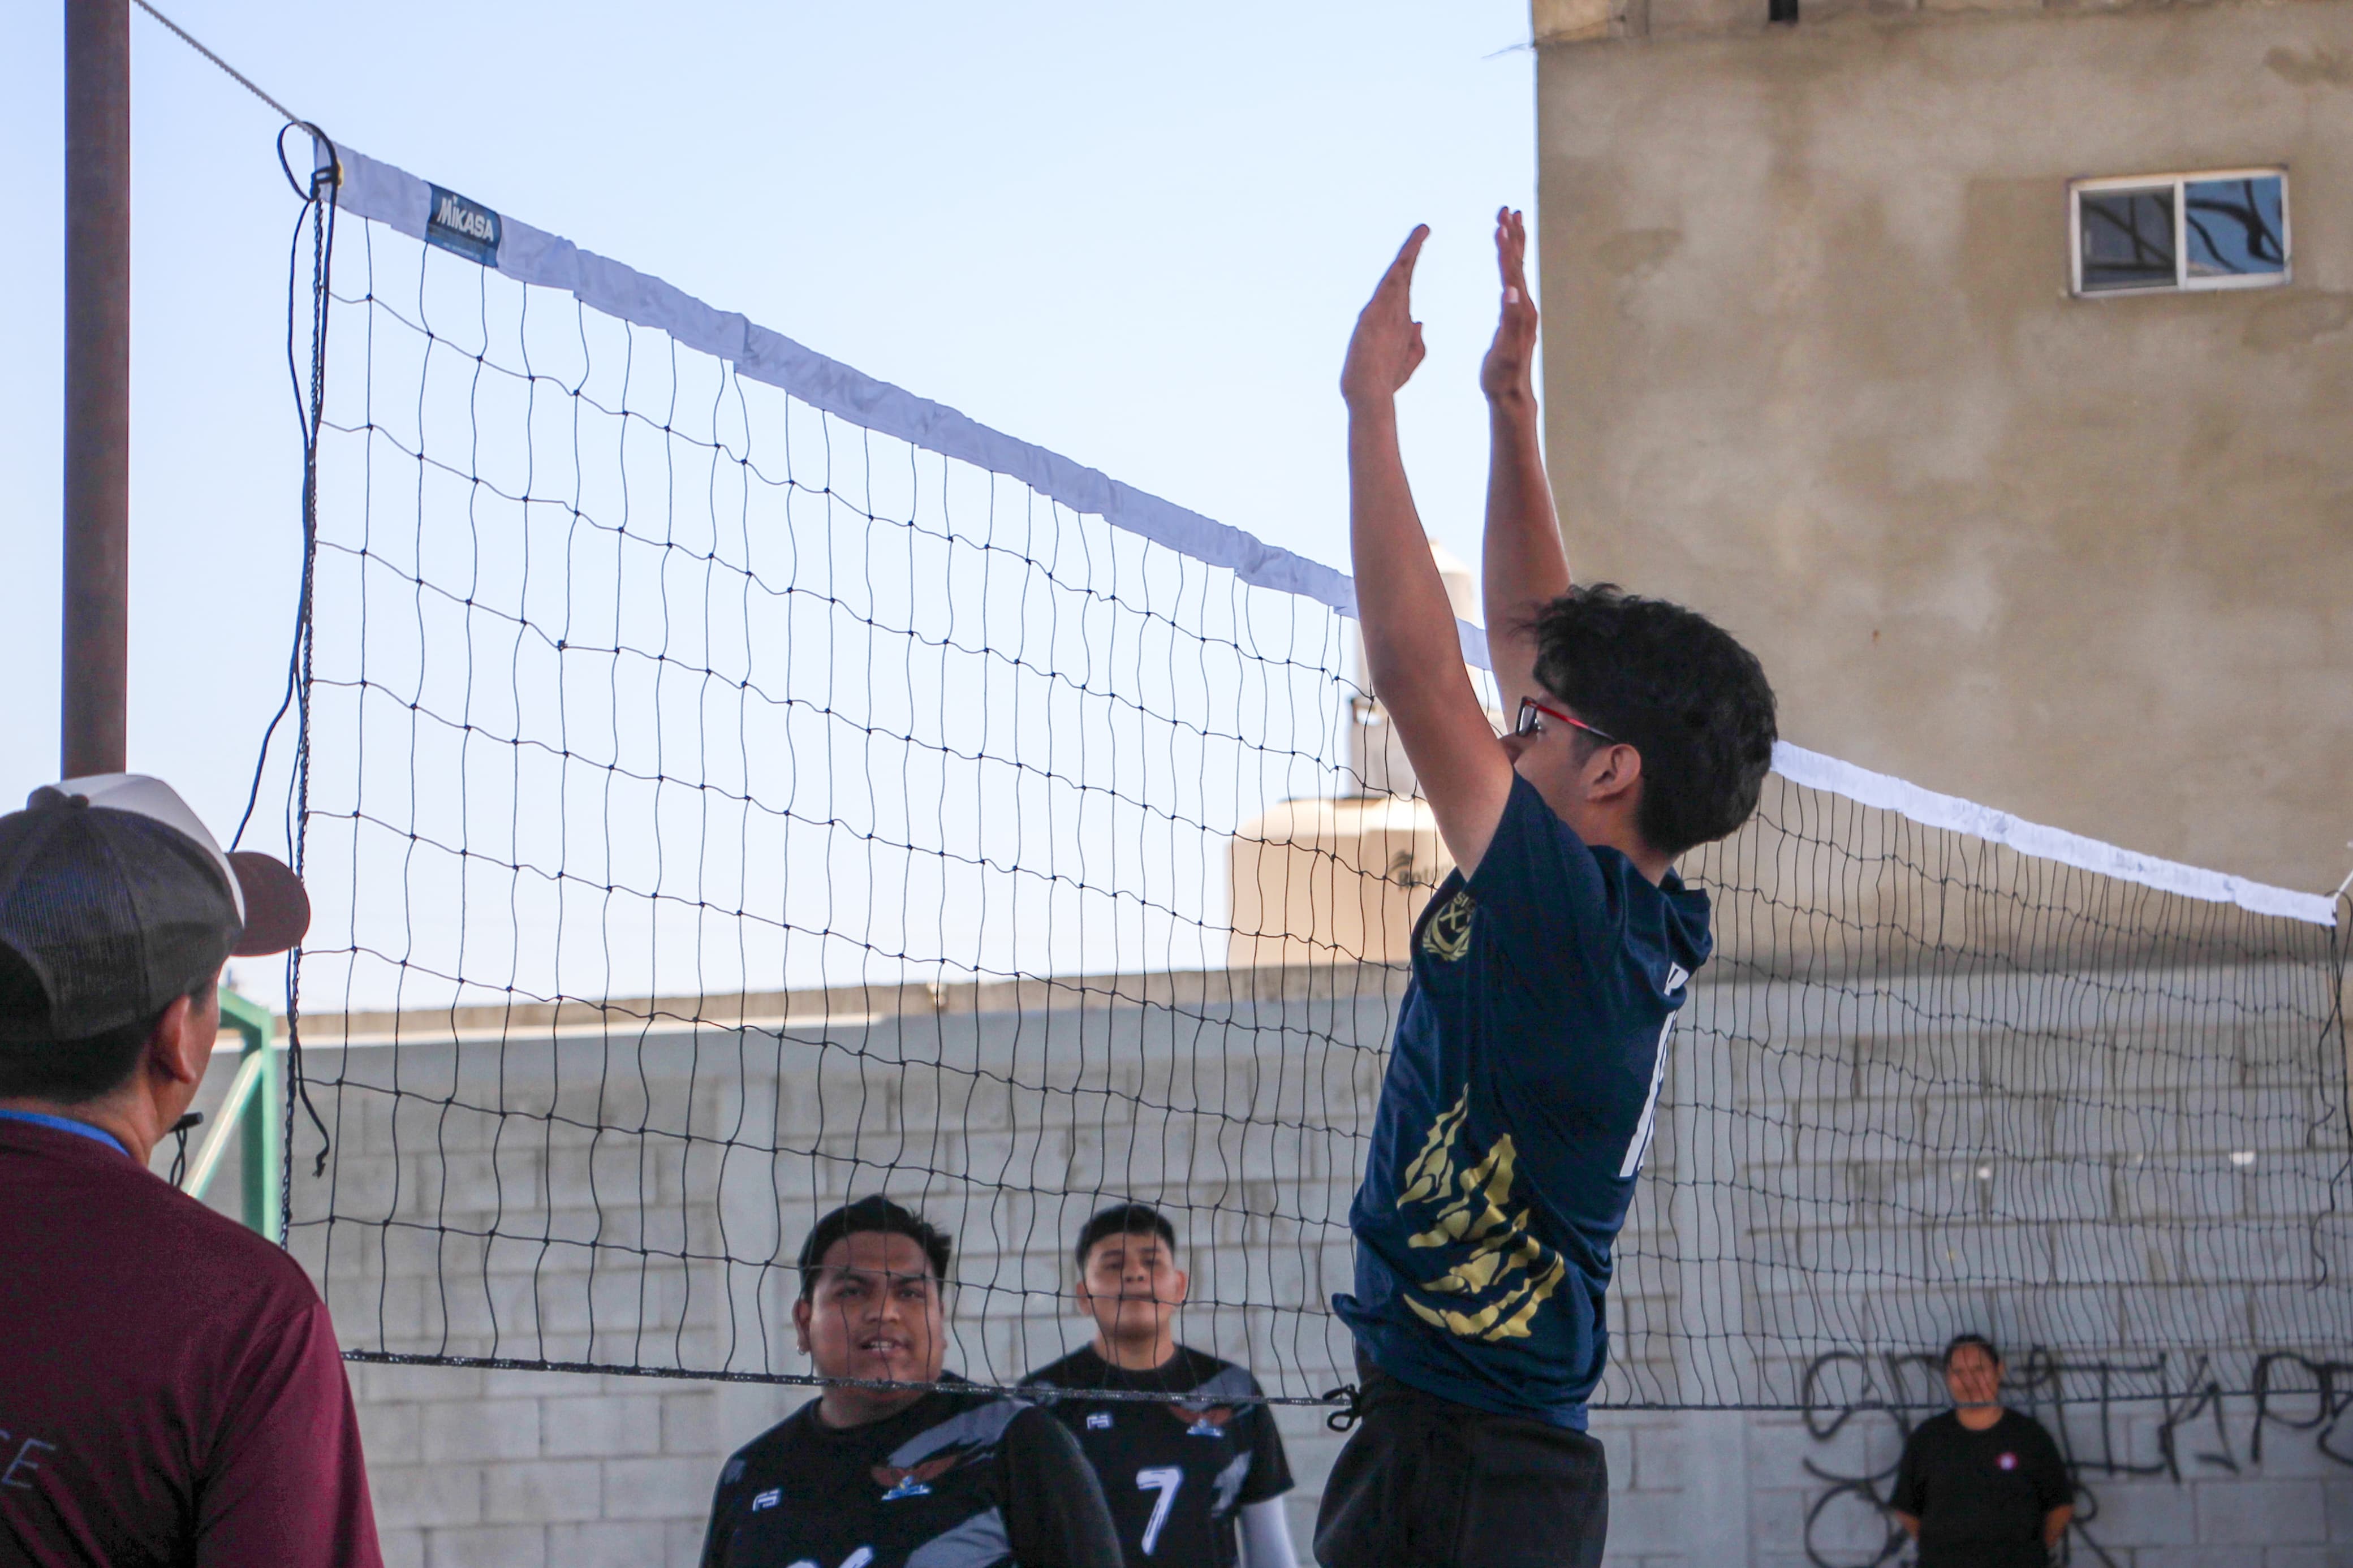
<path fill-rule="evenodd" d="M 800 1349 L 824 1378 L 941 1371 L 948 1237 L 882 1197 L 800 1248 Z M 1104 1490 L 1042 1408 L 831 1385 L 720 1472 L 704 1568 L 1118 1568 Z"/>

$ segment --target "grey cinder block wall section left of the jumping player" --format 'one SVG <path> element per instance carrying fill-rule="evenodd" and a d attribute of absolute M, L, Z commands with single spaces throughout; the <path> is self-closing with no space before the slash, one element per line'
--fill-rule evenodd
<path fill-rule="evenodd" d="M 948 1368 L 1009 1382 L 1087 1340 L 1066 1239 L 1141 1197 L 1184 1229 L 1184 1338 L 1322 1392 L 1346 1331 L 1320 1302 L 1346 1288 L 1395 1001 L 1360 980 L 758 997 L 609 1030 L 595 1009 L 322 1018 L 306 1063 L 334 1159 L 311 1180 L 296 1131 L 289 1244 L 346 1349 L 800 1373 L 800 1237 L 880 1190 L 958 1239 Z M 395 1568 L 687 1568 L 725 1455 L 809 1396 L 381 1363 L 353 1389 Z M 1299 1542 L 1341 1441 L 1322 1415 L 1280 1413 Z"/>

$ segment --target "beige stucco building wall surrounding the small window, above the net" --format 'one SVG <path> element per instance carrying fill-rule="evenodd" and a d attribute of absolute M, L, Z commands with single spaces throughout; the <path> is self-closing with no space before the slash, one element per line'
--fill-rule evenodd
<path fill-rule="evenodd" d="M 2353 2 L 1748 9 L 1539 49 L 1579 576 L 1718 616 L 1791 741 L 2337 886 Z M 2071 176 L 2247 165 L 2289 167 L 2294 282 L 2068 296 Z"/>

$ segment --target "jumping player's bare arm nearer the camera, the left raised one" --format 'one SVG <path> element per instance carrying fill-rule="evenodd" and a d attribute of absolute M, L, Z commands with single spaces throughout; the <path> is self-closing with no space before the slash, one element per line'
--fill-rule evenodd
<path fill-rule="evenodd" d="M 1348 339 L 1339 376 L 1348 402 L 1348 541 L 1374 696 L 1398 726 L 1447 851 L 1471 875 L 1511 799 L 1511 752 L 1471 689 L 1454 607 L 1398 451 L 1398 388 L 1424 355 L 1412 284 L 1428 233 L 1424 226 L 1407 235 Z"/>

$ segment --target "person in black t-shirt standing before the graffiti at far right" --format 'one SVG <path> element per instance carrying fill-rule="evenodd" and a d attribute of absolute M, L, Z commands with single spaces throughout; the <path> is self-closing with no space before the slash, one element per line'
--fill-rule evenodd
<path fill-rule="evenodd" d="M 2031 1415 L 2005 1410 L 2002 1356 L 1979 1333 L 1944 1347 L 1953 1408 L 1904 1443 L 1897 1521 L 1920 1568 L 2045 1568 L 2075 1516 L 2059 1446 Z"/>

